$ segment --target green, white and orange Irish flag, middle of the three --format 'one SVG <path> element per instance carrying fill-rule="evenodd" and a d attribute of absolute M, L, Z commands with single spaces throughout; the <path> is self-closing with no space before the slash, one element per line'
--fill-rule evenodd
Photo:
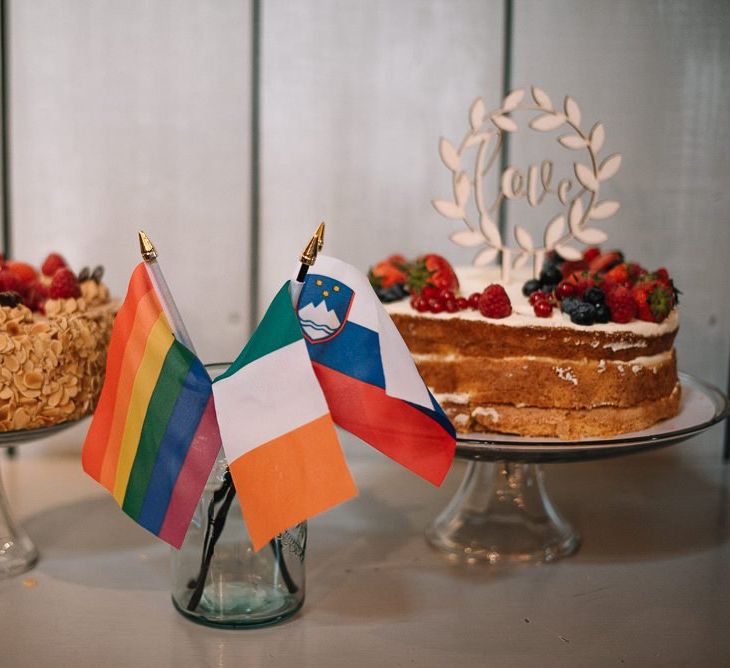
<path fill-rule="evenodd" d="M 357 494 L 307 355 L 289 283 L 213 383 L 223 447 L 255 549 Z"/>

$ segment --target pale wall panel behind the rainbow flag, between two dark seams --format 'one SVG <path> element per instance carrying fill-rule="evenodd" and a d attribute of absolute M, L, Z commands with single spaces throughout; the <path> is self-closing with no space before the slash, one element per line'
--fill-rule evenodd
<path fill-rule="evenodd" d="M 123 295 L 137 230 L 201 357 L 248 327 L 250 3 L 8 3 L 12 248 L 103 264 Z"/>

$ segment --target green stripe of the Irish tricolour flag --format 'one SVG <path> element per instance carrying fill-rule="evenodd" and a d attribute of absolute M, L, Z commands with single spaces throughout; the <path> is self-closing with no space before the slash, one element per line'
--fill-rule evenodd
<path fill-rule="evenodd" d="M 228 378 L 254 360 L 304 338 L 292 307 L 289 283 L 290 281 L 284 283 L 276 294 L 253 336 L 235 362 L 213 382 L 217 383 Z"/>

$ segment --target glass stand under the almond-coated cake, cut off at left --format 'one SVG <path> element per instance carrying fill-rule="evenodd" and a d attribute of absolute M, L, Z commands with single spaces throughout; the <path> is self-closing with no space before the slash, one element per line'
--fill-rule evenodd
<path fill-rule="evenodd" d="M 0 432 L 0 448 L 37 441 L 75 425 L 71 420 L 38 429 Z M 0 477 L 0 579 L 8 578 L 33 568 L 38 561 L 38 550 L 23 528 L 13 520 L 5 489 Z"/>

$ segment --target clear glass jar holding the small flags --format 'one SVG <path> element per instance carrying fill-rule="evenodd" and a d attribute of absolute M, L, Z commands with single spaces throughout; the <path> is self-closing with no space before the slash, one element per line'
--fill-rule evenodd
<path fill-rule="evenodd" d="M 291 617 L 304 603 L 306 542 L 302 522 L 254 552 L 221 450 L 185 541 L 172 550 L 173 605 L 211 626 L 265 626 Z"/>

